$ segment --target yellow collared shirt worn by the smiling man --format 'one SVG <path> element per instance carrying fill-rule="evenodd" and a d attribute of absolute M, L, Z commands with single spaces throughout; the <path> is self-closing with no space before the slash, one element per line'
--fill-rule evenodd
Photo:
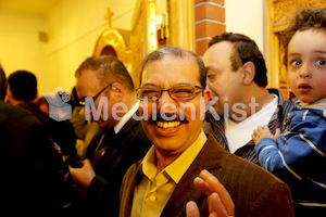
<path fill-rule="evenodd" d="M 135 188 L 131 217 L 160 216 L 177 183 L 199 154 L 208 138 L 201 130 L 197 140 L 172 164 L 156 173 L 155 149 L 142 161 L 143 178 Z M 185 207 L 186 208 L 186 207 Z"/>

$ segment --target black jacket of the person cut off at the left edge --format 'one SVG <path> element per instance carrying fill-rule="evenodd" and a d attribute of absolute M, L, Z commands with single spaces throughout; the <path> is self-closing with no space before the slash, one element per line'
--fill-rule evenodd
<path fill-rule="evenodd" d="M 61 177 L 57 159 L 40 122 L 0 100 L 0 216 L 58 214 Z"/>

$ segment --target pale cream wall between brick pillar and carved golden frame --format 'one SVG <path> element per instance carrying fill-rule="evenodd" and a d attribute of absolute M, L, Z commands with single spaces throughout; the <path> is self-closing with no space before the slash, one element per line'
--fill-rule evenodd
<path fill-rule="evenodd" d="M 264 53 L 264 0 L 225 0 L 226 31 L 252 38 Z"/>

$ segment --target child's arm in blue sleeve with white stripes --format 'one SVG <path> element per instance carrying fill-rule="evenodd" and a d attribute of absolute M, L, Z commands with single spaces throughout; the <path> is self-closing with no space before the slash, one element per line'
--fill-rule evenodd
<path fill-rule="evenodd" d="M 293 115 L 290 130 L 286 135 L 280 135 L 277 142 L 271 138 L 262 139 L 256 143 L 255 151 L 263 168 L 277 176 L 281 174 L 300 178 L 299 171 L 303 171 L 300 165 L 304 164 L 305 168 L 310 169 L 309 165 L 313 165 L 312 162 L 325 158 L 325 118 L 309 112 Z"/>

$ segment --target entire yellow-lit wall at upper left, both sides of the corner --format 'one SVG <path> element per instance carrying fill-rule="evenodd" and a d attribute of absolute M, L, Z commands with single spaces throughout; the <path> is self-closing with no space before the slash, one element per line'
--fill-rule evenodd
<path fill-rule="evenodd" d="M 92 55 L 100 34 L 108 28 L 106 8 L 113 12 L 112 26 L 130 30 L 136 0 L 61 0 L 47 15 L 0 9 L 0 62 L 9 75 L 27 69 L 38 78 L 39 95 L 62 87 L 71 92 L 75 71 Z M 38 31 L 49 35 L 38 40 Z"/>

